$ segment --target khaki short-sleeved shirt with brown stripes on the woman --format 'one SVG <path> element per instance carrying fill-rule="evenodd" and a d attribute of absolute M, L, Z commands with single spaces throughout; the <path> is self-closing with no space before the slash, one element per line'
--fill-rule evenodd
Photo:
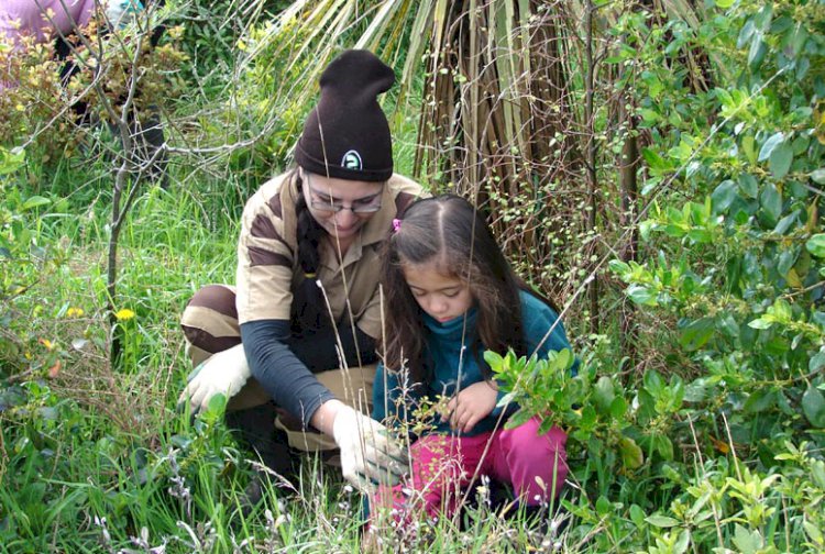
<path fill-rule="evenodd" d="M 243 210 L 238 242 L 238 319 L 243 324 L 258 320 L 290 318 L 293 290 L 304 280 L 296 237 L 297 179 L 279 175 L 264 184 Z M 394 174 L 384 187 L 382 208 L 364 224 L 340 264 L 334 248 L 320 246 L 320 279 L 334 320 L 348 309 L 364 333 L 381 336 L 381 246 L 389 236 L 393 219 L 420 197 L 421 187 Z"/>

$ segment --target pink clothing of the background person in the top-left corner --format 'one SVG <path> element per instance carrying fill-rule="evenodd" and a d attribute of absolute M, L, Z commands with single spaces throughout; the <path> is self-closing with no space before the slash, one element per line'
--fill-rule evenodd
<path fill-rule="evenodd" d="M 51 10 L 50 18 L 44 12 Z M 63 34 L 85 26 L 95 11 L 95 0 L 2 0 L 0 1 L 0 35 L 15 45 L 22 36 L 35 36 L 37 42 L 53 38 L 57 29 Z"/>

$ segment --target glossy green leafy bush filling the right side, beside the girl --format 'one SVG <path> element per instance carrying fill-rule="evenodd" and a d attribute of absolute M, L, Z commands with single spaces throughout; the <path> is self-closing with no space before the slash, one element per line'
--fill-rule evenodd
<path fill-rule="evenodd" d="M 825 518 L 809 507 L 825 491 L 825 11 L 717 5 L 695 29 L 628 12 L 612 30 L 639 46 L 609 62 L 640 65 L 630 90 L 651 143 L 647 259 L 610 268 L 641 321 L 676 321 L 684 363 L 620 379 L 604 356 L 574 377 L 564 352 L 488 358 L 521 407 L 510 424 L 540 413 L 568 430 L 582 489 L 566 501 L 582 521 L 573 532 L 605 529 L 600 551 L 823 544 Z M 674 63 L 684 46 L 706 54 L 706 88 Z M 671 347 L 661 334 L 639 340 L 641 356 Z"/>

